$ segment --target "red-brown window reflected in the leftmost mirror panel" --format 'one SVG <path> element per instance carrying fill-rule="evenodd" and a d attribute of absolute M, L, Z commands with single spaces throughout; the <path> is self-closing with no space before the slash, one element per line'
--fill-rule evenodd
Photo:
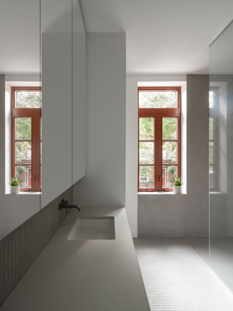
<path fill-rule="evenodd" d="M 41 190 L 41 88 L 11 88 L 11 177 Z"/>

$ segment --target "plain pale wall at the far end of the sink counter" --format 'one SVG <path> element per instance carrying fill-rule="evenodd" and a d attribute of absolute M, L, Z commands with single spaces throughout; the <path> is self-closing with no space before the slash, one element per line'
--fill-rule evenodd
<path fill-rule="evenodd" d="M 86 175 L 81 206 L 125 206 L 126 34 L 86 34 Z"/>

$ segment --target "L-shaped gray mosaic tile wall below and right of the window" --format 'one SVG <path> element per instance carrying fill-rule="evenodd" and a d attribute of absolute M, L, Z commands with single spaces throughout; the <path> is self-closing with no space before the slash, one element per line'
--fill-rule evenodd
<path fill-rule="evenodd" d="M 138 237 L 209 235 L 209 76 L 187 75 L 187 194 L 139 194 Z"/>

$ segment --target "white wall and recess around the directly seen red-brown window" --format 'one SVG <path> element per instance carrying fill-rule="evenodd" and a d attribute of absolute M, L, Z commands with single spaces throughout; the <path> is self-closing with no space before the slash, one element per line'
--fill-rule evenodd
<path fill-rule="evenodd" d="M 186 106 L 186 75 L 127 75 L 126 76 L 126 214 L 131 234 L 137 237 L 138 227 L 138 86 L 181 86 L 182 104 Z M 160 83 L 161 82 L 161 83 Z M 183 106 L 182 106 L 183 110 Z M 182 144 L 186 142 L 186 121 L 182 114 Z M 186 164 L 186 154 L 182 154 Z M 182 179 L 186 168 L 182 165 Z"/>

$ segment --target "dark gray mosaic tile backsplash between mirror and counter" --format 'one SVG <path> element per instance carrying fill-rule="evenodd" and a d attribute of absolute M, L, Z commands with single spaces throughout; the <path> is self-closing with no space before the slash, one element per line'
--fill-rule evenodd
<path fill-rule="evenodd" d="M 72 187 L 0 240 L 0 306 L 65 219 L 63 198 L 72 204 Z"/>

